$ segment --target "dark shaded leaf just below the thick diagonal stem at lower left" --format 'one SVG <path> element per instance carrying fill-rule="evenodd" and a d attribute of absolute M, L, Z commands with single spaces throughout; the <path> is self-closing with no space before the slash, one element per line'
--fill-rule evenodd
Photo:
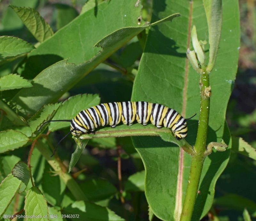
<path fill-rule="evenodd" d="M 54 206 L 60 206 L 63 199 L 66 185 L 60 179 L 60 176 L 51 170 L 48 162 L 45 162 L 45 168 L 42 178 L 42 190 L 48 203 Z"/>

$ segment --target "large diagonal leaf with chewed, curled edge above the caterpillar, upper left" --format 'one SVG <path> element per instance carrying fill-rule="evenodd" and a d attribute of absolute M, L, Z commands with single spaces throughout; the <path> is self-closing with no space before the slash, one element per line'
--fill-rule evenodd
<path fill-rule="evenodd" d="M 168 15 L 154 24 L 139 26 L 140 8 L 128 0 L 104 2 L 98 5 L 97 17 L 93 13 L 89 10 L 78 16 L 29 54 L 22 76 L 34 78 L 34 86 L 30 90 L 22 89 L 12 99 L 13 105 L 24 115 L 33 114 L 46 103 L 56 102 L 100 62 L 145 28 L 179 16 Z M 97 46 L 103 47 L 100 51 L 93 47 L 97 41 Z M 80 64 L 62 60 L 48 67 L 63 58 Z M 33 107 L 28 110 L 26 106 L 32 103 Z"/>

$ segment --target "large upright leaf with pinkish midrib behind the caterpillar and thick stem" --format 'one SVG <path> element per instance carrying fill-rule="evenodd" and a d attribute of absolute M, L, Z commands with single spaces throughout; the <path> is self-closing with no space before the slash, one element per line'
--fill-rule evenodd
<path fill-rule="evenodd" d="M 192 25 L 196 26 L 199 39 L 208 40 L 203 2 L 168 0 L 160 3 L 155 0 L 153 5 L 153 21 L 173 12 L 180 12 L 181 17 L 172 24 L 165 23 L 149 30 L 132 100 L 164 104 L 184 117 L 197 113 L 188 122 L 186 139 L 193 145 L 199 117 L 199 75 L 188 64 L 186 51 L 190 45 Z M 192 220 L 199 220 L 210 209 L 216 180 L 228 163 L 231 140 L 225 124 L 225 112 L 237 69 L 239 32 L 238 3 L 225 1 L 220 48 L 210 75 L 212 97 L 207 142 L 220 142 L 223 138 L 229 144 L 229 149 L 222 153 L 214 151 L 205 159 L 199 184 L 201 193 L 197 196 Z M 206 50 L 208 48 L 206 45 Z M 132 139 L 145 166 L 145 194 L 150 208 L 161 219 L 179 220 L 188 182 L 190 156 L 159 138 Z"/>

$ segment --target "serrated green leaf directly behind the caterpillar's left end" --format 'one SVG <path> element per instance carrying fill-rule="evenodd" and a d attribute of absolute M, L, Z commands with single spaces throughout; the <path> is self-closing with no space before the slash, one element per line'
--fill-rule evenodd
<path fill-rule="evenodd" d="M 65 100 L 52 120 L 72 120 L 76 114 L 89 107 L 98 105 L 100 97 L 97 94 L 78 94 Z M 65 127 L 70 127 L 69 122 L 51 122 L 49 130 L 60 130 Z"/>

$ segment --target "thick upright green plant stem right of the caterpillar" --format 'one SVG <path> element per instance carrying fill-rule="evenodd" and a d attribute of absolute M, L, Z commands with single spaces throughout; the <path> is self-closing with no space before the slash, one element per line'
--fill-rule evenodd
<path fill-rule="evenodd" d="M 191 220 L 205 158 L 204 152 L 208 131 L 211 96 L 209 74 L 206 73 L 206 71 L 204 71 L 201 75 L 199 84 L 201 91 L 201 101 L 196 144 L 194 146 L 195 154 L 191 158 L 188 186 L 185 194 L 180 221 Z"/>

